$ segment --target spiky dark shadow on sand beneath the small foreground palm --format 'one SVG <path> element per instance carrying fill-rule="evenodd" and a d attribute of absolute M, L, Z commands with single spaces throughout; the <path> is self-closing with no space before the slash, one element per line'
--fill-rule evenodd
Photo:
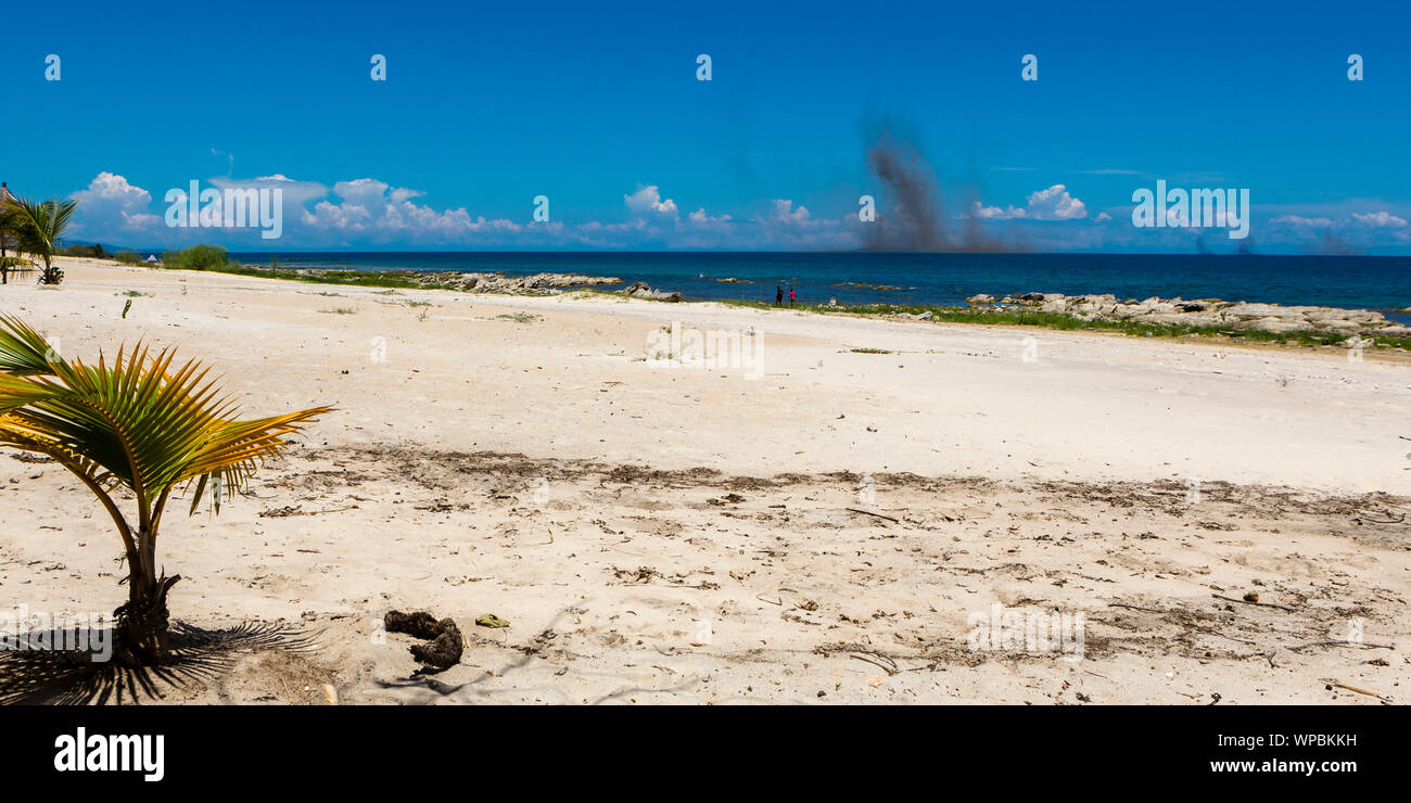
<path fill-rule="evenodd" d="M 316 646 L 315 638 L 285 625 L 203 629 L 172 622 L 171 660 L 144 668 L 95 662 L 89 651 L 6 651 L 0 652 L 0 706 L 161 703 L 164 690 L 205 686 L 254 651 L 306 651 Z"/>

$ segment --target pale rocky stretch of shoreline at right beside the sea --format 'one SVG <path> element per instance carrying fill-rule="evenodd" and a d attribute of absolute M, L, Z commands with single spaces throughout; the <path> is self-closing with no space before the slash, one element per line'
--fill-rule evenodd
<path fill-rule="evenodd" d="M 1362 336 L 1411 336 L 1411 327 L 1387 320 L 1369 309 L 1340 309 L 1335 306 L 1284 306 L 1201 298 L 1149 298 L 1146 301 L 1119 299 L 1103 295 L 1062 295 L 1057 292 L 1026 292 L 993 296 L 974 295 L 965 299 L 972 309 L 1023 309 L 1067 315 L 1079 320 L 1113 320 L 1151 323 L 1157 326 L 1202 326 L 1256 332 L 1326 332 Z"/>

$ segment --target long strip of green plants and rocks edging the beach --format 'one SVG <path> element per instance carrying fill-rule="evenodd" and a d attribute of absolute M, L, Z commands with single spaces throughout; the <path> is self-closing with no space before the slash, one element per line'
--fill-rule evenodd
<path fill-rule="evenodd" d="M 131 264 L 119 260 L 123 264 Z M 646 298 L 649 301 L 682 302 L 679 294 L 665 294 L 659 291 L 634 292 L 641 282 L 626 289 L 602 289 L 605 285 L 624 284 L 614 277 L 587 277 L 577 274 L 536 274 L 533 277 L 507 277 L 504 274 L 466 274 L 460 271 L 422 272 L 422 271 L 353 271 L 353 270 L 325 270 L 325 268 L 281 268 L 278 260 L 271 260 L 270 267 L 241 264 L 226 254 L 219 246 L 192 246 L 182 251 L 168 251 L 162 254 L 162 261 L 152 268 L 161 270 L 193 270 L 234 274 L 257 278 L 272 278 L 284 281 L 371 286 L 387 289 L 447 289 L 460 292 L 492 292 L 501 295 L 557 295 L 563 292 L 602 295 L 624 298 Z M 499 281 L 495 281 L 495 277 Z M 1285 308 L 1273 303 L 1245 305 L 1257 306 L 1261 312 L 1288 312 L 1295 309 L 1343 312 L 1348 315 L 1326 315 L 1326 319 L 1360 319 L 1379 322 L 1359 329 L 1348 330 L 1326 329 L 1287 329 L 1278 327 L 1266 330 L 1247 325 L 1230 322 L 1212 323 L 1208 316 L 1192 315 L 1199 323 L 1184 323 L 1178 320 L 1133 320 L 1113 319 L 1105 316 L 1092 318 L 1084 315 L 1079 302 L 1092 299 L 1094 303 L 1106 301 L 1119 305 L 1149 305 L 1146 310 L 1160 312 L 1160 305 L 1198 305 L 1189 312 L 1208 312 L 1212 306 L 1240 306 L 1240 302 L 1222 302 L 1218 299 L 1201 299 L 1198 302 L 1182 302 L 1181 299 L 1147 299 L 1144 302 L 1126 301 L 1116 302 L 1112 296 L 1062 296 L 1058 294 L 1022 294 L 1013 296 L 995 298 L 978 295 L 968 299 L 969 306 L 947 306 L 931 303 L 861 303 L 838 305 L 832 303 L 797 303 L 786 308 L 776 308 L 768 301 L 751 299 L 700 299 L 690 303 L 722 303 L 727 306 L 748 306 L 758 309 L 790 309 L 796 312 L 811 312 L 820 315 L 851 315 L 859 318 L 886 318 L 895 320 L 917 320 L 933 323 L 969 323 L 979 326 L 1031 326 L 1036 329 L 1055 329 L 1064 332 L 1103 332 L 1112 334 L 1126 334 L 1132 337 L 1205 337 L 1229 343 L 1259 343 L 1274 346 L 1338 346 L 1391 351 L 1411 351 L 1411 334 L 1374 333 L 1371 329 L 1393 326 L 1380 313 L 1364 310 L 1342 310 L 1339 308 Z M 1062 303 L 1067 302 L 1067 303 Z M 1091 309 L 1091 305 L 1089 305 Z M 1143 312 L 1146 312 L 1143 310 Z M 1182 310 L 1184 312 L 1184 310 Z M 1394 327 L 1404 329 L 1404 327 Z"/>

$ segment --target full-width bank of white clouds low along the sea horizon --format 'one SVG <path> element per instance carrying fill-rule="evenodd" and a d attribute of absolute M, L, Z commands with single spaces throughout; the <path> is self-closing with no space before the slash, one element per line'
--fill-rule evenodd
<path fill-rule="evenodd" d="M 1123 171 L 1134 172 L 1134 171 Z M 621 193 L 621 213 L 610 220 L 574 220 L 552 206 L 547 220 L 525 216 L 485 217 L 460 207 L 436 207 L 426 193 L 375 178 L 323 183 L 284 174 L 254 179 L 213 176 L 202 186 L 278 189 L 282 227 L 277 240 L 262 240 L 253 227 L 174 227 L 169 209 L 186 205 L 185 188 L 152 192 L 116 172 L 100 172 L 71 193 L 79 202 L 73 239 L 114 247 L 181 247 L 214 243 L 231 250 L 734 250 L 734 251 L 1197 251 L 1212 250 L 1209 229 L 1136 229 L 1132 206 L 1092 212 L 1062 183 L 1036 189 L 1020 205 L 971 200 L 965 212 L 933 220 L 937 229 L 965 230 L 964 240 L 943 247 L 879 247 L 872 223 L 856 212 L 814 215 L 792 199 L 768 199 L 763 212 L 737 216 L 707 212 L 665 195 L 658 185 Z M 168 202 L 168 195 L 176 196 Z M 934 192 L 934 191 L 933 191 Z M 914 224 L 904 198 L 878 203 L 878 231 Z M 940 217 L 941 205 L 926 215 Z M 1257 207 L 1256 207 L 1257 209 Z M 1367 209 L 1367 210 L 1359 210 Z M 564 219 L 566 217 L 566 219 Z M 1370 210 L 1366 203 L 1322 209 L 1261 209 L 1252 243 L 1228 250 L 1270 253 L 1349 254 L 1411 247 L 1411 223 L 1404 213 Z M 1218 231 L 1218 230 L 1216 230 Z M 903 240 L 914 243 L 916 240 Z M 923 240 L 924 241 L 924 240 Z"/>

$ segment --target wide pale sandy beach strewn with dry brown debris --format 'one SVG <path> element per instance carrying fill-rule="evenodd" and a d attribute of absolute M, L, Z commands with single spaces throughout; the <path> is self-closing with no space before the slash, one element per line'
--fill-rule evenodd
<path fill-rule="evenodd" d="M 1405 354 L 61 261 L 0 310 L 63 356 L 141 339 L 246 415 L 337 408 L 159 546 L 174 617 L 317 646 L 168 701 L 1407 699 Z M 673 322 L 758 363 L 649 358 Z M 110 522 L 16 454 L 4 597 L 111 610 Z M 413 675 L 388 610 L 454 618 L 460 665 Z M 1081 649 L 972 649 L 996 611 L 1081 615 Z"/>

